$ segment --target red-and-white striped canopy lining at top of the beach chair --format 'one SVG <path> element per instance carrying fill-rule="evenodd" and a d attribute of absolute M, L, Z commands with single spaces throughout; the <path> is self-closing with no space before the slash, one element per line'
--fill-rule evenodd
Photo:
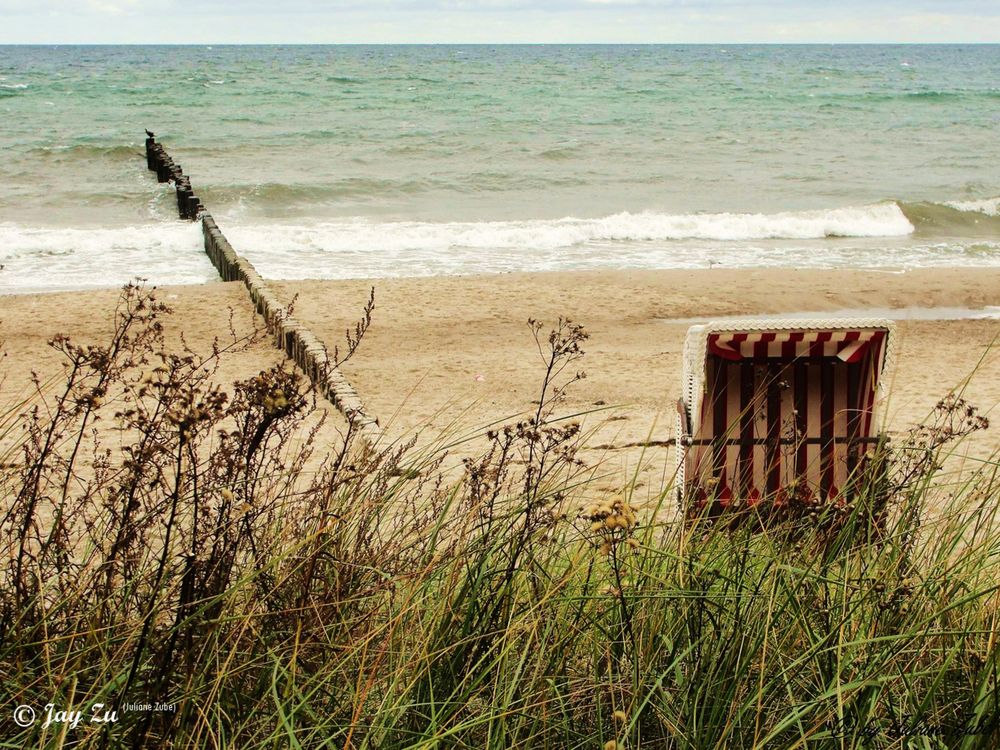
<path fill-rule="evenodd" d="M 885 337 L 882 329 L 839 331 L 722 331 L 708 336 L 708 351 L 723 359 L 837 357 L 859 361 Z"/>

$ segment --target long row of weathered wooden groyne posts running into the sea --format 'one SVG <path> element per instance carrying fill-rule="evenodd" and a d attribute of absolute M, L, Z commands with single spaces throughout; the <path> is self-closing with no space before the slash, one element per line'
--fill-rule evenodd
<path fill-rule="evenodd" d="M 257 313 L 264 318 L 275 345 L 310 378 L 316 389 L 332 403 L 350 422 L 355 434 L 368 445 L 382 438 L 378 420 L 368 414 L 357 391 L 347 381 L 329 350 L 305 324 L 289 314 L 274 291 L 268 286 L 253 264 L 240 256 L 222 233 L 212 215 L 205 210 L 191 188 L 191 180 L 180 165 L 156 142 L 155 136 L 146 131 L 146 166 L 156 172 L 159 182 L 174 183 L 177 190 L 177 213 L 182 219 L 201 219 L 205 252 L 223 281 L 241 281 L 250 294 Z"/>

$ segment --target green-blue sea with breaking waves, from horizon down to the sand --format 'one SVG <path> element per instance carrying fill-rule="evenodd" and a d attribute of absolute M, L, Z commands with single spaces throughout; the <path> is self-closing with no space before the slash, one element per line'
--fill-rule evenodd
<path fill-rule="evenodd" d="M 1000 266 L 1000 46 L 0 46 L 0 293 Z"/>

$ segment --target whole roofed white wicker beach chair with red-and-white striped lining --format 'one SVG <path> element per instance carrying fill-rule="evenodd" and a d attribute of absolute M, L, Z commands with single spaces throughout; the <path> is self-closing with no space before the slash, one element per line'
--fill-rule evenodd
<path fill-rule="evenodd" d="M 873 431 L 894 342 L 882 319 L 693 326 L 678 402 L 682 510 L 849 499 L 883 439 Z"/>

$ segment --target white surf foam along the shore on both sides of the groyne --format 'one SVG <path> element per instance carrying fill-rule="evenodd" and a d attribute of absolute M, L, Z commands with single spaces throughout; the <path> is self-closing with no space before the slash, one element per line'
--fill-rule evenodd
<path fill-rule="evenodd" d="M 1000 266 L 1000 242 L 928 244 L 894 203 L 781 214 L 623 213 L 503 222 L 252 224 L 218 217 L 267 278 L 379 278 L 601 268 Z M 217 279 L 200 227 L 0 224 L 0 294 Z"/>

